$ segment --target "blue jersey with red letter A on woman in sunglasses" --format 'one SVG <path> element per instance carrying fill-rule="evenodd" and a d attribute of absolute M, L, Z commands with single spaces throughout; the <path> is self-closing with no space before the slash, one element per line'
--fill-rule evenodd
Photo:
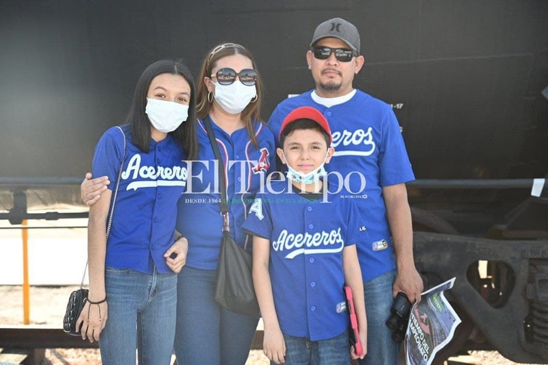
<path fill-rule="evenodd" d="M 257 147 L 245 128 L 230 135 L 215 121 L 212 121 L 212 128 L 227 181 L 230 235 L 237 244 L 251 247 L 251 239 L 241 226 L 256 192 L 264 184 L 267 174 L 275 169 L 274 136 L 264 123 L 253 123 Z M 223 235 L 219 169 L 202 120 L 198 121 L 197 129 L 199 158 L 189 162 L 187 190 L 178 203 L 177 231 L 188 238 L 186 265 L 216 270 Z"/>

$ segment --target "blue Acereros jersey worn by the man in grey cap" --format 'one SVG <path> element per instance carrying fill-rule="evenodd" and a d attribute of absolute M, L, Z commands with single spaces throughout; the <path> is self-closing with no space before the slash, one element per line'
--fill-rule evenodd
<path fill-rule="evenodd" d="M 369 281 L 395 268 L 382 187 L 414 180 L 399 124 L 388 104 L 360 90 L 331 108 L 316 103 L 311 94 L 279 103 L 269 127 L 277 138 L 287 114 L 304 105 L 318 109 L 329 121 L 335 153 L 325 169 L 329 181 L 353 197 L 368 224 L 370 241 L 358 244 L 358 257 L 367 267 L 364 281 Z"/>

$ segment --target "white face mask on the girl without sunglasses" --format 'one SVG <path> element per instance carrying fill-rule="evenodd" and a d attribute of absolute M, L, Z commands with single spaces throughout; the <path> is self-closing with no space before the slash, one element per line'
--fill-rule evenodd
<path fill-rule="evenodd" d="M 155 129 L 169 133 L 186 121 L 186 118 L 188 118 L 188 105 L 147 98 L 145 113 L 149 116 L 149 121 Z"/>

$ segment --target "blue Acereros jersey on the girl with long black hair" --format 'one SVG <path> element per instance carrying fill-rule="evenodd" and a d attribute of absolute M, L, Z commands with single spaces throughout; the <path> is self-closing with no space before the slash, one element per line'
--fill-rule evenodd
<path fill-rule="evenodd" d="M 173 244 L 177 200 L 186 186 L 186 155 L 170 135 L 160 142 L 151 139 L 149 153 L 144 153 L 133 144 L 129 125 L 122 128 L 126 154 L 105 265 L 142 273 L 153 273 L 156 266 L 160 273 L 172 273 L 164 253 Z M 112 199 L 122 158 L 123 136 L 112 127 L 99 139 L 92 162 L 93 176 L 110 179 Z"/>

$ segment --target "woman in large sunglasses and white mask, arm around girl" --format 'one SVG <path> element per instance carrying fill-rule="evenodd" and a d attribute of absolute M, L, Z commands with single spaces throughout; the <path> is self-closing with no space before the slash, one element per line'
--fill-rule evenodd
<path fill-rule="evenodd" d="M 177 210 L 177 231 L 188 239 L 188 255 L 177 282 L 175 353 L 184 365 L 241 365 L 258 318 L 225 310 L 214 299 L 223 221 L 219 171 L 204 120 L 210 118 L 223 158 L 230 234 L 246 249 L 252 242 L 241 225 L 267 173 L 275 168 L 274 136 L 260 122 L 262 81 L 245 47 L 223 43 L 208 52 L 197 88 L 199 161 L 189 165 L 187 190 Z M 101 184 L 101 178 L 85 180 L 84 201 L 93 203 Z"/>

